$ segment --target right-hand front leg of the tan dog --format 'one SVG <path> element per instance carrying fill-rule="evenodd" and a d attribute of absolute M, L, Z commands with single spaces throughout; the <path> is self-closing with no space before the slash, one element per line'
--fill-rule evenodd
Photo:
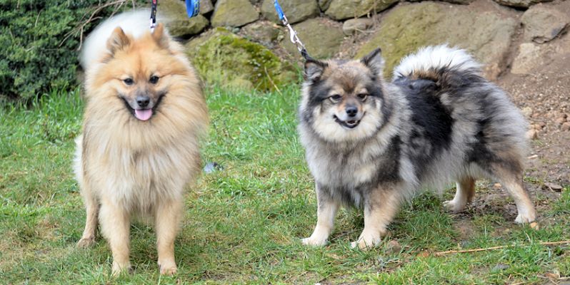
<path fill-rule="evenodd" d="M 159 252 L 160 274 L 176 274 L 174 239 L 178 232 L 184 202 L 182 199 L 162 202 L 156 208 L 156 247 Z"/>

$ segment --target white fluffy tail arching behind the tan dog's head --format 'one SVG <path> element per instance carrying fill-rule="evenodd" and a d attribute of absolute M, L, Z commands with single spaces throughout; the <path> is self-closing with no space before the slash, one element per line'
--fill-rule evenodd
<path fill-rule="evenodd" d="M 116 27 L 121 27 L 126 34 L 131 34 L 131 36 L 137 38 L 144 32 L 149 31 L 150 15 L 150 10 L 126 12 L 106 19 L 97 26 L 94 31 L 89 33 L 81 48 L 79 61 L 83 69 L 86 70 L 105 55 L 107 52 L 107 39 L 109 39 Z"/>

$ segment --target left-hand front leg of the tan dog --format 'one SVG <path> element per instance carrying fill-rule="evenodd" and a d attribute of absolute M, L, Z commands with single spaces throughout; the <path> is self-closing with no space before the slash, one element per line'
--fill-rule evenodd
<path fill-rule="evenodd" d="M 131 219 L 124 207 L 114 204 L 109 199 L 101 199 L 99 222 L 101 234 L 106 237 L 113 254 L 112 274 L 118 275 L 124 270 L 131 269 L 129 261 L 129 234 Z"/>

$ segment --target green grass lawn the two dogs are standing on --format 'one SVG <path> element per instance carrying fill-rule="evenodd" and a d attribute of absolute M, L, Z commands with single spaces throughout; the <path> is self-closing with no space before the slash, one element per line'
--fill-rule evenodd
<path fill-rule="evenodd" d="M 201 175 L 186 196 L 176 239 L 179 273 L 159 276 L 154 230 L 131 229 L 134 274 L 110 276 L 111 252 L 99 237 L 76 249 L 84 207 L 71 171 L 81 131 L 79 92 L 51 94 L 31 108 L 0 108 L 1 284 L 544 284 L 570 276 L 570 187 L 539 199 L 541 228 L 520 227 L 507 199 L 484 210 L 446 213 L 444 195 L 404 205 L 380 247 L 350 249 L 364 221 L 343 209 L 331 243 L 304 247 L 316 223 L 313 182 L 296 135 L 296 87 L 279 93 L 208 91 L 211 115 L 204 162 L 223 170 Z M 527 184 L 538 184 L 526 177 Z M 479 198 L 494 193 L 479 182 Z M 512 245 L 486 252 L 451 249 Z M 561 279 L 559 279 L 561 278 Z"/>

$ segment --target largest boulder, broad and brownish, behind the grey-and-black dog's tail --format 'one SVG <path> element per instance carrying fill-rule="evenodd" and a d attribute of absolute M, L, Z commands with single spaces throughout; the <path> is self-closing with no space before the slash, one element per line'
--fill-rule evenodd
<path fill-rule="evenodd" d="M 361 57 L 380 47 L 389 77 L 402 57 L 422 46 L 448 43 L 465 48 L 484 63 L 485 75 L 495 79 L 506 66 L 506 57 L 518 21 L 488 1 L 469 6 L 421 2 L 398 6 L 382 19 L 371 39 L 356 53 Z M 474 11 L 477 11 L 474 13 Z"/>

